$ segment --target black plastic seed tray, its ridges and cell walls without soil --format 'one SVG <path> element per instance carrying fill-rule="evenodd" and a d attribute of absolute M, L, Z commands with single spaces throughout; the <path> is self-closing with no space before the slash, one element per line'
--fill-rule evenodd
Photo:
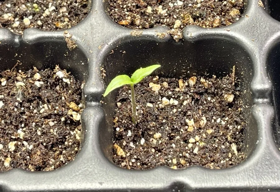
<path fill-rule="evenodd" d="M 203 29 L 188 26 L 184 39 L 160 38 L 166 27 L 135 31 L 119 26 L 106 13 L 106 1 L 93 0 L 91 12 L 68 30 L 78 45 L 70 51 L 64 31 L 27 29 L 23 36 L 0 29 L 0 70 L 54 67 L 59 64 L 86 80 L 82 147 L 75 160 L 49 172 L 12 169 L 0 173 L 1 191 L 280 191 L 280 18 L 279 2 L 248 0 L 244 16 L 231 26 Z M 271 14 L 273 17 L 271 17 Z M 210 170 L 157 167 L 122 169 L 110 160 L 116 91 L 101 104 L 102 93 L 119 73 L 160 63 L 157 73 L 180 77 L 185 70 L 217 76 L 236 75 L 246 91 L 248 108 L 246 158 L 237 166 Z M 102 78 L 100 66 L 106 77 Z"/>

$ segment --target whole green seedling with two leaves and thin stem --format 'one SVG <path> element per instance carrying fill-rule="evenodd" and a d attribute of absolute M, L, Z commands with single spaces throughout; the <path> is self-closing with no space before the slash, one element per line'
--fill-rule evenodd
<path fill-rule="evenodd" d="M 116 88 L 122 87 L 124 85 L 130 85 L 131 103 L 132 103 L 132 122 L 133 122 L 133 124 L 136 124 L 137 117 L 136 117 L 136 102 L 135 102 L 134 85 L 136 83 L 139 83 L 144 77 L 146 77 L 147 75 L 150 75 L 154 70 L 156 70 L 159 67 L 161 67 L 161 65 L 151 65 L 146 68 L 137 69 L 132 74 L 131 77 L 129 77 L 128 75 L 118 75 L 109 83 L 103 96 L 104 97 L 107 96 L 111 91 L 113 91 Z"/>

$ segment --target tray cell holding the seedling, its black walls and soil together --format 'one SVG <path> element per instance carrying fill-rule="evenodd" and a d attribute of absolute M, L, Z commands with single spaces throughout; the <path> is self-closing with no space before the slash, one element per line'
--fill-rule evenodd
<path fill-rule="evenodd" d="M 136 125 L 129 85 L 104 98 L 107 124 L 100 126 L 100 142 L 118 166 L 220 169 L 242 162 L 254 148 L 252 62 L 239 44 L 222 38 L 184 44 L 124 41 L 103 63 L 106 86 L 117 75 L 161 65 L 134 86 Z M 110 150 L 108 140 L 113 140 Z"/>

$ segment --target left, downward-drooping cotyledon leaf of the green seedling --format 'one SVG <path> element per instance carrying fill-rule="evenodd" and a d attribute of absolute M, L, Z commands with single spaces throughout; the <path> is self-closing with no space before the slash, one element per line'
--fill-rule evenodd
<path fill-rule="evenodd" d="M 103 96 L 107 96 L 111 91 L 113 91 L 116 88 L 122 87 L 123 85 L 133 84 L 130 77 L 128 75 L 118 75 L 115 77 L 108 85 L 108 87 L 105 90 L 105 93 Z"/>

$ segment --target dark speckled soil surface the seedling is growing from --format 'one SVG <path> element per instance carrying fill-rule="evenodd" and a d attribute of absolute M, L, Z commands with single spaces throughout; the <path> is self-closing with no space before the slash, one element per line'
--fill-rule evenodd
<path fill-rule="evenodd" d="M 233 78 L 146 77 L 135 86 L 137 125 L 131 119 L 130 88 L 121 88 L 113 161 L 128 169 L 220 169 L 243 161 L 246 106 Z"/>

